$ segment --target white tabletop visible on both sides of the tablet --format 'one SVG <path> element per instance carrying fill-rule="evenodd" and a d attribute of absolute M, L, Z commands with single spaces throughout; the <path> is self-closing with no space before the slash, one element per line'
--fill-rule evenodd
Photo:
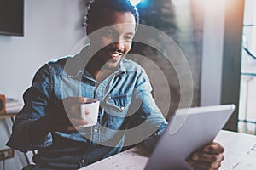
<path fill-rule="evenodd" d="M 256 169 L 256 136 L 222 130 L 218 133 L 215 141 L 225 148 L 225 159 L 220 167 L 221 170 Z M 102 161 L 97 161 L 80 170 L 141 170 L 146 166 L 148 157 L 145 149 L 142 146 L 137 146 Z"/>

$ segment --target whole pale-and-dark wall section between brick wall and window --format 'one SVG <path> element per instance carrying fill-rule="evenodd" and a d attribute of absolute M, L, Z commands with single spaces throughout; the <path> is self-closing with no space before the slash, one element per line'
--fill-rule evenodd
<path fill-rule="evenodd" d="M 201 105 L 235 104 L 225 129 L 237 130 L 244 0 L 206 0 Z"/>

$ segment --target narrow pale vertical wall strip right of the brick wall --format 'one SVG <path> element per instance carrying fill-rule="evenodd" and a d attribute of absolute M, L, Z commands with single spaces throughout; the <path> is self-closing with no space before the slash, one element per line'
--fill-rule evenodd
<path fill-rule="evenodd" d="M 206 0 L 201 60 L 201 105 L 219 105 L 221 99 L 225 1 Z"/>

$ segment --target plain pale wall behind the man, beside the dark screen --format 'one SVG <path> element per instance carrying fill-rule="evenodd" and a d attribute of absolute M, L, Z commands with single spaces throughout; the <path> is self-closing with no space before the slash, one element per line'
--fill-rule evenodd
<path fill-rule="evenodd" d="M 22 102 L 38 68 L 73 51 L 85 35 L 84 7 L 82 0 L 25 0 L 24 37 L 0 36 L 0 94 Z M 10 124 L 0 120 L 0 150 L 6 148 Z M 20 170 L 26 165 L 24 156 L 17 153 L 15 159 L 6 160 L 5 169 Z"/>

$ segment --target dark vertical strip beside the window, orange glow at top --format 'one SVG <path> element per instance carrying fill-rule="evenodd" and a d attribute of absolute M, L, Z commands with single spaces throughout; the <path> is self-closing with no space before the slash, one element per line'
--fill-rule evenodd
<path fill-rule="evenodd" d="M 245 0 L 226 0 L 221 104 L 235 104 L 236 110 L 225 129 L 237 131 L 241 81 L 241 44 Z"/>

